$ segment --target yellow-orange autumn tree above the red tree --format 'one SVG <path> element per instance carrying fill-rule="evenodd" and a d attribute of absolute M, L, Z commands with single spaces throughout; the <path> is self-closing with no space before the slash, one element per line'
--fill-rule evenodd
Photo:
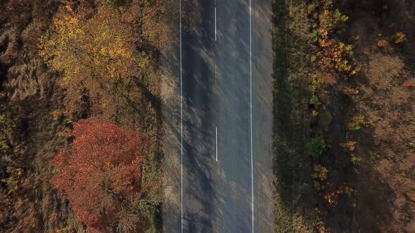
<path fill-rule="evenodd" d="M 84 1 L 82 1 L 84 2 Z M 87 99 L 97 112 L 115 115 L 120 98 L 139 98 L 137 82 L 149 83 L 153 52 L 172 40 L 167 25 L 169 1 L 132 0 L 115 7 L 60 8 L 53 29 L 40 40 L 40 55 L 57 72 L 67 90 L 69 113 Z"/>

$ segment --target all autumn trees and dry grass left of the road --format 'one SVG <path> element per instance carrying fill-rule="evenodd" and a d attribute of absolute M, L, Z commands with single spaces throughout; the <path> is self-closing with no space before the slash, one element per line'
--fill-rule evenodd
<path fill-rule="evenodd" d="M 176 7 L 0 2 L 1 232 L 160 230 L 159 53 Z"/>

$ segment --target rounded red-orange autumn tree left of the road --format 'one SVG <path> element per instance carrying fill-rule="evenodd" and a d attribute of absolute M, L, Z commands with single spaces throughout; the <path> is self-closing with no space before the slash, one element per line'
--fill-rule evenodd
<path fill-rule="evenodd" d="M 53 185 L 68 196 L 89 232 L 138 232 L 143 210 L 155 205 L 143 180 L 147 135 L 98 120 L 81 120 L 72 149 L 53 159 Z"/>

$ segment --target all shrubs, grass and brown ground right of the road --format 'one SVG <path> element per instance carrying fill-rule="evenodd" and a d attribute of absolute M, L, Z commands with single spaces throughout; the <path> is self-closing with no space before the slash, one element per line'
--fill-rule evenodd
<path fill-rule="evenodd" d="M 414 231 L 414 7 L 274 1 L 277 232 Z"/>

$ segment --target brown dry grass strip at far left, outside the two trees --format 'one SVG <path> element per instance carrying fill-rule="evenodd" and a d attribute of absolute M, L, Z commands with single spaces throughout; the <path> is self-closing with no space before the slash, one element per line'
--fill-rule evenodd
<path fill-rule="evenodd" d="M 44 33 L 59 1 L 1 1 L 0 70 L 2 114 L 16 124 L 11 149 L 0 152 L 0 180 L 13 177 L 17 189 L 0 185 L 1 232 L 56 232 L 67 225 L 84 227 L 58 197 L 49 182 L 49 161 L 67 143 L 59 136 L 63 122 L 51 112 L 63 107 L 63 90 L 37 57 L 37 40 Z M 4 18 L 3 16 L 7 17 Z"/>

